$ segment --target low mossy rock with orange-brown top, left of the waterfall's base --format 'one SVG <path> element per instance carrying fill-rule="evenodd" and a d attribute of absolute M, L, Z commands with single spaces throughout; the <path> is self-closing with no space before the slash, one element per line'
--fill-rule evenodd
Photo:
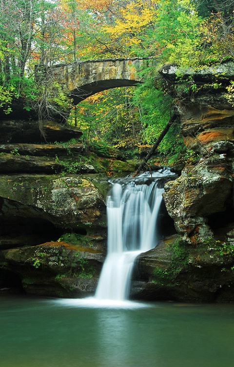
<path fill-rule="evenodd" d="M 27 294 L 83 297 L 94 294 L 105 254 L 66 242 L 0 252 L 0 268 L 16 273 Z"/>

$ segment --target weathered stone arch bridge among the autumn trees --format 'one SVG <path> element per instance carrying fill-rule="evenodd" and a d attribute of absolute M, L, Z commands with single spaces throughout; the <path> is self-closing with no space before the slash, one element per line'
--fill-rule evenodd
<path fill-rule="evenodd" d="M 151 66 L 150 58 L 109 58 L 55 65 L 50 78 L 58 81 L 74 104 L 105 89 L 129 87 L 142 82 L 137 72 Z"/>

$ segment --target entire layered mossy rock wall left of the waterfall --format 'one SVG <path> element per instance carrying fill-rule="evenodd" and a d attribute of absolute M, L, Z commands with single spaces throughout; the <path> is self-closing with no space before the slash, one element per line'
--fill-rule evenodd
<path fill-rule="evenodd" d="M 105 257 L 107 178 L 86 163 L 78 129 L 43 130 L 50 144 L 36 121 L 0 123 L 0 289 L 83 297 Z"/>

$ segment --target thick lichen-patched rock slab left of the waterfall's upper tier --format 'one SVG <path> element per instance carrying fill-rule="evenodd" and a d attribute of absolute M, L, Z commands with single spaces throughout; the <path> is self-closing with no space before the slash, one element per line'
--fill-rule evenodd
<path fill-rule="evenodd" d="M 32 215 L 60 228 L 84 229 L 105 222 L 104 199 L 81 176 L 0 175 L 1 213 L 10 217 Z"/>

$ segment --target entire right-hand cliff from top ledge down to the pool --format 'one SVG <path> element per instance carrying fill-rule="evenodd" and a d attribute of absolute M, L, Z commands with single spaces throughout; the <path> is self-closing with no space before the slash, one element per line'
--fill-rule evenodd
<path fill-rule="evenodd" d="M 234 302 L 234 63 L 160 74 L 190 157 L 163 194 L 178 235 L 138 257 L 132 297 Z"/>

